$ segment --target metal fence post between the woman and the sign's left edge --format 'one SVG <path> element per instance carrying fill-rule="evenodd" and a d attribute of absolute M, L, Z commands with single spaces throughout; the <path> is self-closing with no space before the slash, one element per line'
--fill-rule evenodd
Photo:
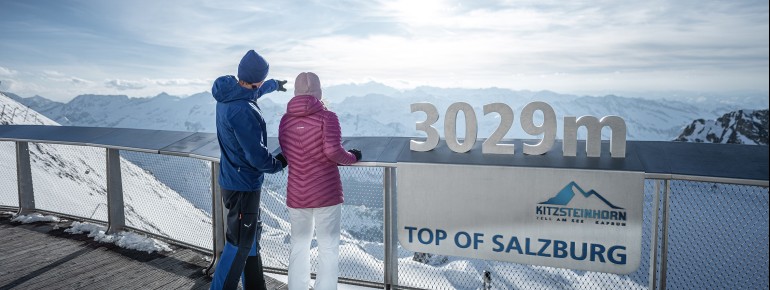
<path fill-rule="evenodd" d="M 398 286 L 398 231 L 396 229 L 396 169 L 385 167 L 382 173 L 384 188 L 384 229 L 385 235 L 385 289 Z"/>

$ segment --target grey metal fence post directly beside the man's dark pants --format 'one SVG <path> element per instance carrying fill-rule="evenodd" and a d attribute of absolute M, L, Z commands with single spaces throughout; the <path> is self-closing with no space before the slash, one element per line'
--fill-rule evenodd
<path fill-rule="evenodd" d="M 219 162 L 211 162 L 211 226 L 213 233 L 213 257 L 206 268 L 206 275 L 213 275 L 225 247 L 225 216 L 222 206 L 222 190 L 219 188 Z"/>

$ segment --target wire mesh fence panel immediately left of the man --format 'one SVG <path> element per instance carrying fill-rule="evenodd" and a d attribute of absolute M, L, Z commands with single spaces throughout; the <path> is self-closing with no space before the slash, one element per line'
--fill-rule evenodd
<path fill-rule="evenodd" d="M 126 225 L 213 248 L 211 162 L 121 151 Z"/>

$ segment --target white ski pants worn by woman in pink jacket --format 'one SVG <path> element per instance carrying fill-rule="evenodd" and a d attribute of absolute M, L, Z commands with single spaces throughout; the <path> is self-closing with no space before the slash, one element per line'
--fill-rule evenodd
<path fill-rule="evenodd" d="M 318 268 L 313 289 L 337 289 L 341 210 L 342 204 L 321 208 L 289 208 L 289 290 L 308 290 L 310 286 L 310 243 L 313 240 L 313 228 L 318 241 Z"/>

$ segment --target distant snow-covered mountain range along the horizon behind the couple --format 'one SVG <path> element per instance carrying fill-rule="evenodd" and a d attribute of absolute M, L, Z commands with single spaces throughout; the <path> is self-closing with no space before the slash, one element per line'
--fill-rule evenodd
<path fill-rule="evenodd" d="M 274 95 L 275 94 L 275 95 Z M 259 100 L 268 126 L 268 135 L 277 136 L 280 117 L 285 112 L 287 95 L 269 94 Z M 286 99 L 284 99 L 286 98 Z M 175 131 L 215 132 L 215 101 L 208 92 L 180 98 L 160 94 L 151 98 L 81 95 L 68 103 L 42 97 L 16 99 L 63 125 L 125 127 Z M 340 118 L 345 136 L 423 136 L 415 123 L 423 113 L 411 113 L 410 104 L 430 102 L 441 115 L 434 124 L 444 134 L 446 109 L 455 102 L 467 102 L 476 111 L 478 137 L 489 137 L 499 126 L 497 114 L 483 114 L 485 104 L 501 102 L 514 110 L 514 124 L 507 138 L 532 138 L 520 125 L 521 109 L 532 101 L 544 101 L 556 112 L 561 138 L 564 116 L 618 115 L 626 120 L 629 140 L 672 140 L 694 119 L 717 118 L 745 106 L 743 103 L 705 102 L 697 99 L 681 102 L 665 99 L 620 96 L 576 96 L 550 91 L 512 91 L 500 88 L 442 89 L 418 87 L 399 91 L 382 84 L 341 85 L 324 88 L 327 106 Z M 744 99 L 738 99 L 746 101 Z M 753 100 L 750 103 L 761 103 Z M 458 117 L 458 135 L 464 133 L 462 115 Z M 536 115 L 535 119 L 542 118 Z M 582 131 L 579 131 L 582 134 Z M 605 132 L 608 133 L 608 132 Z M 582 137 L 582 136 L 580 136 Z"/>

